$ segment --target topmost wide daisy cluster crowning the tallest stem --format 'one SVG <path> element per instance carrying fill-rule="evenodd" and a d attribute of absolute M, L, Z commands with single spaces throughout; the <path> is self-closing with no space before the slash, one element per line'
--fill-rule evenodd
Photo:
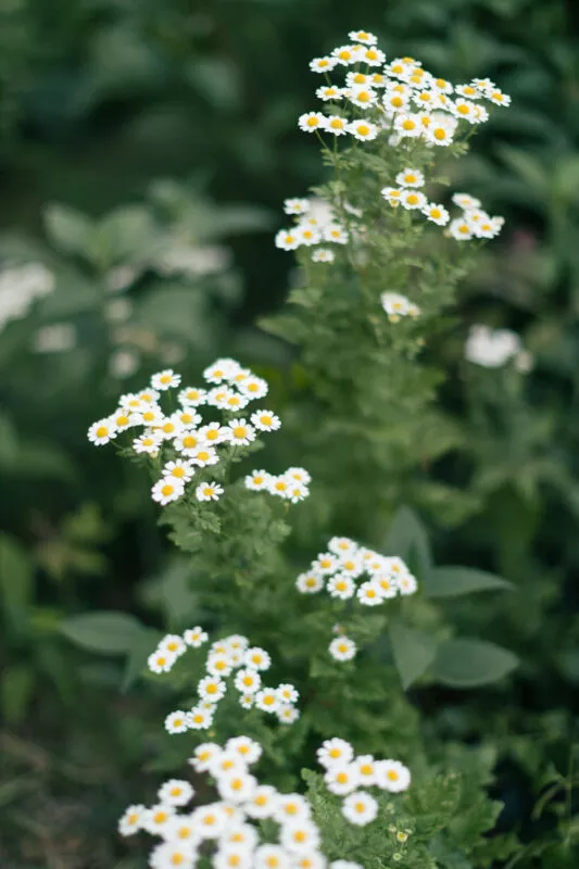
<path fill-rule="evenodd" d="M 358 141 L 387 133 L 394 147 L 405 139 L 445 147 L 469 125 L 488 121 L 484 103 L 511 103 L 489 78 L 453 85 L 437 78 L 414 58 L 387 62 L 373 34 L 353 30 L 349 38 L 349 45 L 310 63 L 312 72 L 324 75 L 324 84 L 316 89 L 324 112 L 300 116 L 298 126 L 304 133 L 352 136 Z M 330 77 L 338 72 L 345 73 L 339 84 Z"/>

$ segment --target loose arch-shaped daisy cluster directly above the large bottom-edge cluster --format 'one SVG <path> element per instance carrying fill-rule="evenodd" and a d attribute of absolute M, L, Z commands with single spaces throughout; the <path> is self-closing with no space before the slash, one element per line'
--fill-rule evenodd
<path fill-rule="evenodd" d="M 169 633 L 161 640 L 149 656 L 149 669 L 155 673 L 168 672 L 187 647 L 200 648 L 209 640 L 201 627 L 190 628 L 182 635 Z M 189 710 L 176 709 L 165 718 L 168 733 L 187 730 L 207 730 L 217 711 L 219 701 L 232 688 L 238 692 L 244 709 L 256 708 L 275 715 L 280 723 L 291 725 L 300 717 L 295 708 L 299 692 L 289 682 L 277 688 L 262 683 L 262 673 L 269 669 L 272 658 L 264 648 L 251 646 L 247 637 L 231 634 L 209 647 L 205 675 L 197 685 L 199 701 Z"/>

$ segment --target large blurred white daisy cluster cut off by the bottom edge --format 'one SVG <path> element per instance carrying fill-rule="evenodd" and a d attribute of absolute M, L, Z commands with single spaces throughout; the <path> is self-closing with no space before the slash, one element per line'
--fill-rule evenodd
<path fill-rule="evenodd" d="M 199 745 L 189 763 L 211 777 L 219 798 L 187 810 L 192 786 L 171 779 L 161 785 L 155 805 L 126 809 L 121 835 L 144 831 L 161 839 L 149 858 L 152 869 L 193 869 L 201 858 L 215 869 L 362 869 L 326 859 L 306 797 L 261 784 L 251 772 L 261 755 L 262 746 L 249 736 L 224 746 Z M 272 830 L 267 841 L 262 839 L 265 820 Z"/>

